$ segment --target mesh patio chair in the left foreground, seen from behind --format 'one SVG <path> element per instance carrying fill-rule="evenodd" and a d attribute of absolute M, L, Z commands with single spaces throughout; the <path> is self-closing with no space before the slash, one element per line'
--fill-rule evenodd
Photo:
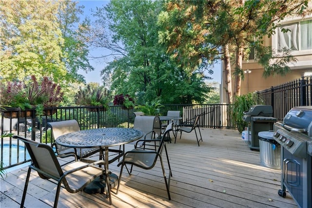
<path fill-rule="evenodd" d="M 24 142 L 26 149 L 31 157 L 31 165 L 27 171 L 20 208 L 24 207 L 31 170 L 36 170 L 39 174 L 39 177 L 42 179 L 53 179 L 57 181 L 57 190 L 53 206 L 54 208 L 58 206 L 61 185 L 63 185 L 68 192 L 77 193 L 84 189 L 97 176 L 105 173 L 104 169 L 95 166 L 104 165 L 105 162 L 103 160 L 98 160 L 93 163 L 84 163 L 78 161 L 75 153 L 71 152 L 68 154 L 75 156 L 75 162 L 61 167 L 58 158 L 51 146 L 32 141 L 18 135 L 14 135 L 13 138 Z M 59 156 L 65 155 L 60 154 Z"/>

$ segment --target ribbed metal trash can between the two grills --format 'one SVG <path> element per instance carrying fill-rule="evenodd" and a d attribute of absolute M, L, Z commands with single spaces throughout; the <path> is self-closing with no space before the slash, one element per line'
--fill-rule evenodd
<path fill-rule="evenodd" d="M 259 148 L 261 165 L 281 170 L 281 147 L 273 137 L 274 132 L 259 132 Z"/>

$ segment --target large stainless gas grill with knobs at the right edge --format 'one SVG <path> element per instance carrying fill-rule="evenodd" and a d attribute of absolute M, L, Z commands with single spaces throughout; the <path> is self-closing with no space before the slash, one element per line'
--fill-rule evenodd
<path fill-rule="evenodd" d="M 292 108 L 274 125 L 273 138 L 281 145 L 281 188 L 301 208 L 312 208 L 312 106 Z"/>

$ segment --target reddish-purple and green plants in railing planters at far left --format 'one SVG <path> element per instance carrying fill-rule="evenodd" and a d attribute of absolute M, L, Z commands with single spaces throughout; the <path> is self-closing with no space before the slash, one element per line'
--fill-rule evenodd
<path fill-rule="evenodd" d="M 0 83 L 0 92 L 1 111 L 15 111 L 12 117 L 17 117 L 17 112 L 21 112 L 21 116 L 31 116 L 27 109 L 36 109 L 36 114 L 42 115 L 44 108 L 57 107 L 63 100 L 61 87 L 47 76 L 42 77 L 40 81 L 35 76 L 31 76 L 23 81 Z M 4 113 L 4 116 L 8 115 Z"/>

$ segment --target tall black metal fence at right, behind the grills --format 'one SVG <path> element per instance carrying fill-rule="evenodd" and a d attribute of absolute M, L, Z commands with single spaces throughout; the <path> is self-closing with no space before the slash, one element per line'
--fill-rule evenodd
<path fill-rule="evenodd" d="M 312 104 L 312 77 L 302 77 L 285 84 L 260 91 L 266 105 L 272 105 L 273 117 L 282 121 L 285 115 L 295 106 Z"/>

